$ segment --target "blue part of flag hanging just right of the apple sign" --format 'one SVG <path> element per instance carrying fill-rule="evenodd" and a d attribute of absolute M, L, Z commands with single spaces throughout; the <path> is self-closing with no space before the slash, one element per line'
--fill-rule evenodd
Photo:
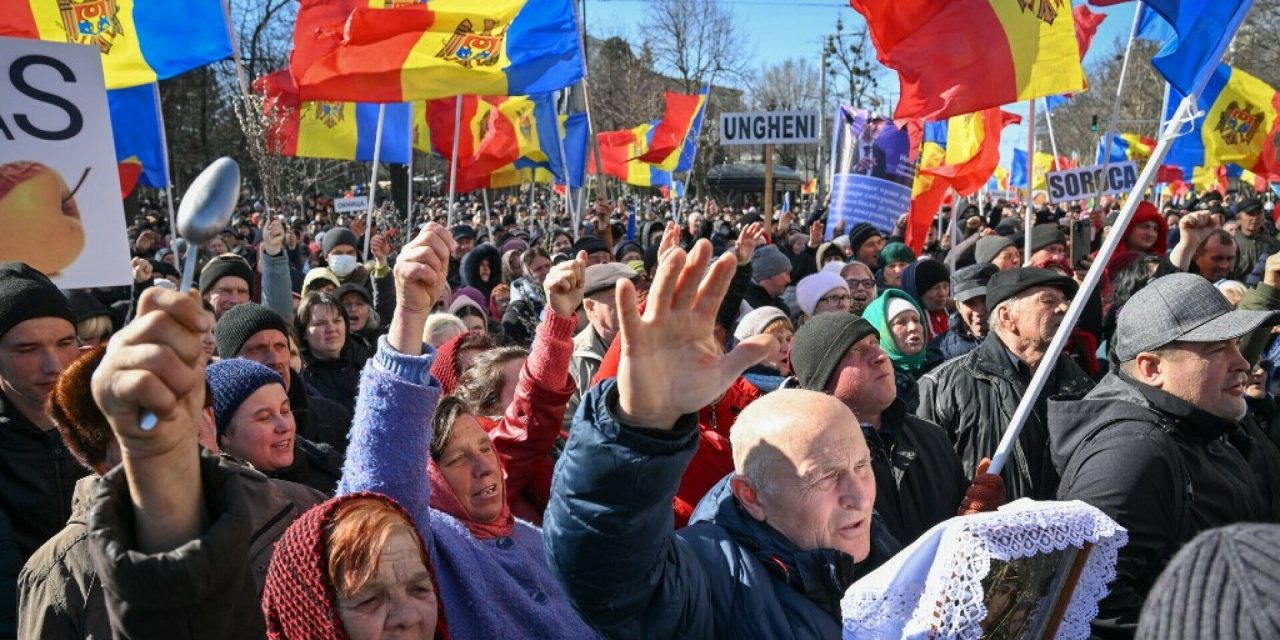
<path fill-rule="evenodd" d="M 136 161 L 140 172 L 138 183 L 157 189 L 168 187 L 160 87 L 151 83 L 113 88 L 106 92 L 106 104 L 111 111 L 115 160 Z"/>

